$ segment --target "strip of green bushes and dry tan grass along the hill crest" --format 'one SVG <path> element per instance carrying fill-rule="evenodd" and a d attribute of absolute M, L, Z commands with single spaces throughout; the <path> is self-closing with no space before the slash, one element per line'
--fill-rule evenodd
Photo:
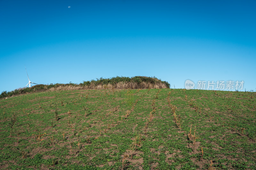
<path fill-rule="evenodd" d="M 96 78 L 91 81 L 83 81 L 83 83 L 75 84 L 50 84 L 50 85 L 34 85 L 30 88 L 19 88 L 11 92 L 4 91 L 0 95 L 0 99 L 5 97 L 17 96 L 20 94 L 57 91 L 57 90 L 88 90 L 88 89 L 162 89 L 170 88 L 167 81 L 162 81 L 156 77 L 134 76 L 134 77 L 113 77 L 113 78 Z"/>

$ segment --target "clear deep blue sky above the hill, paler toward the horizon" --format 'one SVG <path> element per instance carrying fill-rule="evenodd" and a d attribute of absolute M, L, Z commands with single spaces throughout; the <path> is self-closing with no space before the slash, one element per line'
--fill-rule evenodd
<path fill-rule="evenodd" d="M 156 76 L 256 91 L 256 1 L 1 0 L 0 92 Z M 70 6 L 70 7 L 69 7 Z M 195 87 L 196 88 L 196 87 Z"/>

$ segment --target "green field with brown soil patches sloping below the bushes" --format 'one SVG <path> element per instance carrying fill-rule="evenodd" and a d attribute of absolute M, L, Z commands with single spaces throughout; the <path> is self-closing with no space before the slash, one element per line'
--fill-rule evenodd
<path fill-rule="evenodd" d="M 256 93 L 46 91 L 0 100 L 1 169 L 256 169 Z"/>

